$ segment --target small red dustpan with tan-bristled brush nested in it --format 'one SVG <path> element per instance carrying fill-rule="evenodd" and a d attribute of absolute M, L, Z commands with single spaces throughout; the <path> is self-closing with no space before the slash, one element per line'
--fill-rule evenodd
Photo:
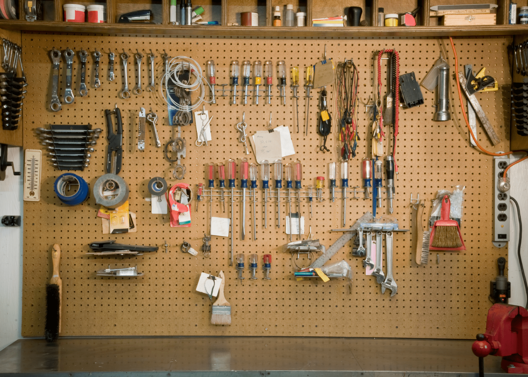
<path fill-rule="evenodd" d="M 451 201 L 447 195 L 442 199 L 440 220 L 435 221 L 431 230 L 429 250 L 466 250 L 458 222 L 449 219 Z"/>

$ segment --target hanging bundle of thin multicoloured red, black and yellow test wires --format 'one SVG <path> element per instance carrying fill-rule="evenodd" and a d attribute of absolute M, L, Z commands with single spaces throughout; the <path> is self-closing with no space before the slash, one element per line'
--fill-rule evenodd
<path fill-rule="evenodd" d="M 343 161 L 356 156 L 357 140 L 359 140 L 357 135 L 358 87 L 359 71 L 352 59 L 339 63 L 336 74 L 336 107 Z"/>

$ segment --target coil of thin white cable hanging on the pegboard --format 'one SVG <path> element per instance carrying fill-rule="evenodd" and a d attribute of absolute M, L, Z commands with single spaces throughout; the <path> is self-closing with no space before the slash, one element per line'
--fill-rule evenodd
<path fill-rule="evenodd" d="M 189 80 L 190 82 L 185 84 L 178 80 L 178 73 L 183 73 L 185 69 L 190 69 L 190 76 L 194 76 L 195 80 Z M 168 73 L 168 74 L 167 74 Z M 172 83 L 178 87 L 188 89 L 190 91 L 200 90 L 200 96 L 198 99 L 191 104 L 191 106 L 181 105 L 180 103 L 174 102 L 170 96 L 166 95 L 167 84 L 171 80 Z M 205 79 L 202 73 L 202 67 L 194 59 L 188 58 L 187 56 L 176 56 L 168 62 L 167 72 L 163 74 L 161 78 L 162 85 L 159 86 L 159 91 L 163 100 L 167 103 L 169 108 L 191 112 L 202 105 L 202 102 L 211 103 L 211 101 L 205 100 L 205 85 L 204 82 L 209 86 L 212 91 L 211 85 L 208 80 Z M 165 92 L 164 92 L 165 90 Z"/>

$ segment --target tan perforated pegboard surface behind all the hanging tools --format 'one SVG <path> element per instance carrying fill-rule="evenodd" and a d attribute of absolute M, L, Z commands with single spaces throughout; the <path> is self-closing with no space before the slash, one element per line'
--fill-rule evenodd
<path fill-rule="evenodd" d="M 61 171 L 55 171 L 51 163 L 43 165 L 42 196 L 40 202 L 24 203 L 24 274 L 22 335 L 41 336 L 44 332 L 45 285 L 51 276 L 50 250 L 53 243 L 62 249 L 61 277 L 63 281 L 62 336 L 121 336 L 121 335 L 277 335 L 277 336 L 366 336 L 366 337 L 425 337 L 425 338 L 474 338 L 482 332 L 486 322 L 489 280 L 496 275 L 496 258 L 507 256 L 506 249 L 493 247 L 489 234 L 492 229 L 492 157 L 477 152 L 469 146 L 465 125 L 461 117 L 454 77 L 454 58 L 448 40 L 418 39 L 412 37 L 375 38 L 329 38 L 310 39 L 302 37 L 164 37 L 157 35 L 64 35 L 45 33 L 23 33 L 24 68 L 31 90 L 24 105 L 24 146 L 42 148 L 34 134 L 36 127 L 50 123 L 86 124 L 103 129 L 106 136 L 105 109 L 117 103 L 124 121 L 124 154 L 120 176 L 130 190 L 130 210 L 137 214 L 137 233 L 125 235 L 101 234 L 101 222 L 96 217 L 98 205 L 93 197 L 85 204 L 69 207 L 62 204 L 53 192 L 53 182 Z M 491 147 L 485 133 L 478 127 L 478 138 L 488 150 L 506 150 L 510 123 L 510 62 L 507 45 L 510 37 L 457 38 L 455 43 L 459 56 L 459 69 L 464 64 L 474 64 L 474 69 L 486 67 L 486 73 L 499 82 L 499 91 L 478 96 L 484 111 L 503 143 Z M 60 112 L 48 110 L 51 62 L 49 50 L 81 48 L 87 51 L 108 52 L 122 49 L 131 53 L 136 49 L 152 49 L 156 52 L 157 76 L 163 64 L 159 58 L 163 50 L 171 56 L 186 55 L 198 61 L 204 68 L 205 61 L 214 59 L 217 68 L 217 83 L 229 82 L 231 60 L 285 60 L 287 67 L 315 63 L 324 52 L 335 61 L 353 58 L 360 72 L 360 100 L 365 102 L 372 95 L 374 52 L 383 48 L 395 48 L 400 54 L 400 74 L 414 71 L 421 80 L 431 65 L 438 59 L 440 50 L 451 64 L 451 112 L 452 121 L 432 121 L 434 95 L 422 89 L 425 103 L 420 107 L 400 111 L 400 134 L 398 137 L 398 179 L 395 180 L 394 216 L 400 228 L 409 229 L 411 222 L 410 194 L 429 204 L 437 190 L 450 189 L 452 185 L 467 186 L 464 201 L 464 216 L 461 232 L 467 250 L 460 253 L 431 253 L 426 266 L 414 262 L 413 230 L 410 233 L 394 234 L 394 274 L 398 294 L 390 297 L 381 294 L 375 278 L 364 275 L 361 258 L 351 256 L 351 243 L 338 251 L 332 261 L 346 260 L 352 266 L 354 277 L 352 293 L 344 280 L 334 279 L 326 284 L 311 278 L 297 281 L 293 277 L 290 255 L 282 253 L 282 245 L 289 241 L 284 223 L 287 203 L 281 204 L 281 229 L 275 227 L 276 205 L 268 203 L 266 216 L 268 227 L 263 227 L 262 197 L 257 205 L 257 227 L 250 220 L 247 205 L 246 229 L 248 237 L 240 239 L 241 203 L 234 207 L 234 253 L 248 256 L 259 255 L 258 280 L 250 280 L 249 269 L 244 270 L 245 280 L 237 280 L 237 270 L 229 266 L 229 238 L 213 237 L 210 258 L 193 257 L 180 251 L 185 240 L 199 250 L 204 232 L 208 232 L 209 207 L 201 202 L 195 212 L 192 203 L 192 227 L 170 228 L 169 215 L 150 213 L 147 183 L 154 176 L 163 176 L 169 184 L 173 165 L 167 162 L 161 148 L 153 145 L 152 130 L 146 134 L 146 150 L 137 150 L 137 113 L 139 107 L 147 110 L 152 106 L 158 114 L 158 133 L 162 145 L 172 137 L 168 126 L 166 105 L 159 93 L 144 91 L 122 100 L 122 65 L 116 56 L 116 80 L 107 80 L 108 56 L 101 60 L 101 87 L 93 87 L 93 62 L 87 65 L 87 82 L 90 89 L 87 97 L 76 96 L 72 105 L 63 105 Z M 135 84 L 135 64 L 129 60 L 128 79 Z M 301 71 L 303 69 L 301 68 Z M 74 63 L 74 88 L 79 83 L 80 63 Z M 63 75 L 61 64 L 61 75 Z M 383 82 L 386 82 L 383 74 Z M 61 76 L 62 84 L 64 77 Z M 142 82 L 148 82 L 147 64 L 142 65 Z M 274 79 L 274 84 L 276 79 Z M 261 88 L 262 89 L 262 88 Z M 330 103 L 334 103 L 333 88 L 329 89 Z M 287 89 L 287 95 L 291 91 Z M 316 91 L 317 92 L 317 91 Z M 76 92 L 77 93 L 77 92 Z M 296 155 L 284 159 L 284 163 L 300 159 L 303 163 L 303 187 L 315 185 L 317 175 L 327 177 L 328 162 L 338 161 L 335 130 L 327 145 L 330 153 L 322 153 L 318 147 L 321 138 L 316 133 L 317 93 L 310 101 L 309 135 L 304 136 L 305 91 L 300 88 L 299 117 L 301 133 L 294 128 L 295 109 L 293 99 L 287 105 L 279 102 L 278 89 L 274 85 L 271 105 L 263 98 L 258 106 L 248 103 L 231 105 L 229 98 L 217 98 L 216 105 L 206 109 L 214 115 L 213 140 L 208 147 L 196 147 L 196 129 L 183 127 L 182 137 L 187 140 L 187 157 L 184 158 L 187 172 L 183 182 L 193 189 L 197 183 L 206 184 L 205 166 L 211 162 L 227 162 L 229 158 L 245 157 L 239 133 L 235 128 L 246 111 L 247 133 L 266 129 L 270 112 L 274 126 L 290 128 Z M 217 92 L 219 95 L 219 92 Z M 333 106 L 333 105 L 332 105 Z M 333 108 L 331 107 L 331 111 Z M 360 163 L 370 156 L 370 122 L 365 107 L 360 106 L 360 142 L 357 157 L 350 162 L 349 185 L 362 186 Z M 335 124 L 335 121 L 334 121 Z M 89 167 L 81 175 L 90 185 L 105 174 L 106 138 L 98 140 L 96 152 L 92 153 Z M 254 155 L 248 156 L 254 162 Z M 290 158 L 291 157 L 291 158 Z M 237 183 L 239 185 L 239 183 Z M 259 181 L 259 186 L 260 186 Z M 384 181 L 385 185 L 385 181 Z M 218 181 L 216 181 L 218 187 Z M 339 191 L 339 190 L 336 190 Z M 262 190 L 258 190 L 261 195 Z M 305 216 L 305 228 L 312 227 L 314 239 L 328 248 L 341 233 L 331 229 L 342 228 L 342 201 L 328 200 L 313 203 L 313 218 L 309 218 L 309 203 L 301 208 Z M 349 195 L 351 196 L 351 195 Z M 365 211 L 372 211 L 371 201 L 347 200 L 347 227 L 352 225 Z M 379 213 L 387 213 L 387 203 Z M 426 208 L 424 222 L 428 218 Z M 213 203 L 213 216 L 229 217 L 229 202 L 225 214 L 218 201 Z M 257 232 L 257 241 L 252 241 L 252 232 Z M 306 235 L 305 235 L 306 237 Z M 160 246 L 155 253 L 139 257 L 101 258 L 87 256 L 88 243 L 98 240 L 117 239 L 117 242 Z M 161 247 L 166 240 L 171 247 L 164 253 Z M 262 255 L 271 253 L 271 280 L 262 280 Z M 96 271 L 112 266 L 134 266 L 145 272 L 138 278 L 107 278 L 96 276 Z M 246 265 L 247 266 L 247 265 Z M 385 267 L 384 267 L 385 269 Z M 217 274 L 223 270 L 227 277 L 225 296 L 231 303 L 231 326 L 213 326 L 210 322 L 211 303 L 207 296 L 196 293 L 200 272 Z"/>

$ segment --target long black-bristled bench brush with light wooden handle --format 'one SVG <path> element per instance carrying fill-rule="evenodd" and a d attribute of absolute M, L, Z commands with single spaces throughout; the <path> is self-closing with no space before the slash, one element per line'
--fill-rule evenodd
<path fill-rule="evenodd" d="M 61 248 L 53 245 L 51 251 L 53 275 L 50 284 L 46 286 L 46 326 L 44 336 L 46 341 L 54 342 L 61 332 L 62 279 L 59 276 L 61 262 Z"/>

